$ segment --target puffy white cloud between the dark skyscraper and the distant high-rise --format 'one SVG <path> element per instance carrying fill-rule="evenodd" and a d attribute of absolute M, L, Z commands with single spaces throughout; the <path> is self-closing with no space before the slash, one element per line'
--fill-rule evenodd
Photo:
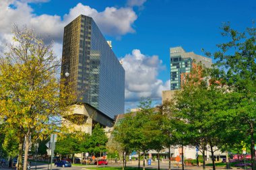
<path fill-rule="evenodd" d="M 125 69 L 125 101 L 139 101 L 141 97 L 159 100 L 162 91 L 170 89 L 170 81 L 158 79 L 164 69 L 158 56 L 146 56 L 140 50 L 133 50 L 123 59 Z"/>

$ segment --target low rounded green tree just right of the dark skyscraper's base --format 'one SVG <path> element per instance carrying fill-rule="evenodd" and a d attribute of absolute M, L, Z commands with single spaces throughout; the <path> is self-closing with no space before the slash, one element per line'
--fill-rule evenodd
<path fill-rule="evenodd" d="M 143 153 L 143 169 L 145 154 L 151 149 L 160 151 L 163 146 L 162 114 L 151 108 L 151 103 L 150 99 L 141 99 L 139 111 L 127 114 L 117 123 L 113 132 L 114 139 L 121 144 L 123 151 Z"/>

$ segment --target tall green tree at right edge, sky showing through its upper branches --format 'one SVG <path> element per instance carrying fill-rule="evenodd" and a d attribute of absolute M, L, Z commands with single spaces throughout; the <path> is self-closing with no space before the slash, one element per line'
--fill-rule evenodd
<path fill-rule="evenodd" d="M 256 169 L 256 28 L 238 32 L 224 24 L 222 30 L 228 42 L 218 44 L 220 50 L 213 54 L 220 71 L 214 71 L 212 77 L 226 84 L 227 90 L 234 94 L 235 103 L 230 112 L 235 112 L 234 116 L 241 120 L 241 126 L 236 124 L 236 127 L 250 138 L 252 169 Z"/>

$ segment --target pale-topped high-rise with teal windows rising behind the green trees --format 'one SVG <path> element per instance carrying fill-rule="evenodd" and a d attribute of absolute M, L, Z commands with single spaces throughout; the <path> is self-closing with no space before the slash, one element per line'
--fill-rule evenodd
<path fill-rule="evenodd" d="M 194 52 L 185 52 L 182 47 L 170 48 L 170 90 L 181 89 L 186 75 L 198 62 L 207 68 L 212 66 L 211 58 L 197 55 Z"/>

